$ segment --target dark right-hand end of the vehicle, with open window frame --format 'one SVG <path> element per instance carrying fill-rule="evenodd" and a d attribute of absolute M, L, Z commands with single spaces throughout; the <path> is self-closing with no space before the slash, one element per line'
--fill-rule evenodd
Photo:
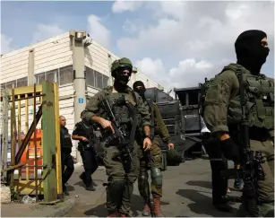
<path fill-rule="evenodd" d="M 201 156 L 205 154 L 202 146 L 202 129 L 205 124 L 200 116 L 200 86 L 174 89 L 176 100 L 180 100 L 184 117 L 184 135 L 188 144 L 193 144 L 187 151 L 188 155 Z"/>

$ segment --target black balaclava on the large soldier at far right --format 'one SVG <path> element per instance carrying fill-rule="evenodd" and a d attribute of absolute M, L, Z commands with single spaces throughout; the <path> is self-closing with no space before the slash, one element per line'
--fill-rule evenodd
<path fill-rule="evenodd" d="M 251 74 L 260 74 L 262 65 L 268 57 L 270 49 L 262 46 L 261 40 L 266 38 L 263 31 L 244 31 L 235 42 L 237 64 L 244 66 Z"/>

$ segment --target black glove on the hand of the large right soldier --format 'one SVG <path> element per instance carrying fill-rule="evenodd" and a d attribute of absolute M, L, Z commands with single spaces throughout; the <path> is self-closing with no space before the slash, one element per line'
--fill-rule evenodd
<path fill-rule="evenodd" d="M 240 163 L 240 149 L 234 143 L 231 138 L 223 140 L 220 142 L 221 151 L 228 160 L 234 161 L 235 164 Z"/>

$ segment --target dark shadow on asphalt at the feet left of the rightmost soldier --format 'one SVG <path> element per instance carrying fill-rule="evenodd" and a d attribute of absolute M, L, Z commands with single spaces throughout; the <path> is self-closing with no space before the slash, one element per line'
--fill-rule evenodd
<path fill-rule="evenodd" d="M 190 199 L 193 203 L 186 205 L 195 214 L 207 214 L 213 217 L 232 217 L 236 214 L 236 209 L 233 213 L 219 212 L 212 205 L 212 198 L 202 195 L 203 192 L 198 192 L 193 189 L 179 189 L 176 194 Z"/>

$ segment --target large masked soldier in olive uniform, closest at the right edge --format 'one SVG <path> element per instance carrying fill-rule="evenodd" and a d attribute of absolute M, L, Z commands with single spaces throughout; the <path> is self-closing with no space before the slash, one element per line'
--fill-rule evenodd
<path fill-rule="evenodd" d="M 240 162 L 239 87 L 244 85 L 252 151 L 262 151 L 265 180 L 258 181 L 260 216 L 274 216 L 274 79 L 260 74 L 269 54 L 266 33 L 245 31 L 235 43 L 237 63 L 226 66 L 205 95 L 204 121 L 219 141 L 224 155 Z M 239 74 L 241 73 L 241 74 Z M 240 84 L 238 76 L 243 76 Z M 246 216 L 242 204 L 238 216 Z"/>

